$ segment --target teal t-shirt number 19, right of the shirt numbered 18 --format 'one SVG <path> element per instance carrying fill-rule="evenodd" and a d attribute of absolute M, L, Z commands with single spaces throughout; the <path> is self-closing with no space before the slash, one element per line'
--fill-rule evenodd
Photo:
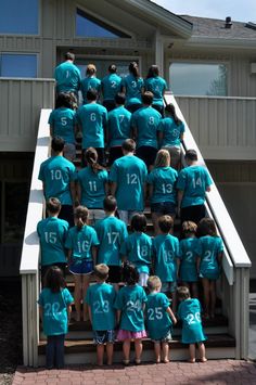
<path fill-rule="evenodd" d="M 159 234 L 153 239 L 155 275 L 162 282 L 177 281 L 177 258 L 180 256 L 179 240 L 170 234 Z"/>

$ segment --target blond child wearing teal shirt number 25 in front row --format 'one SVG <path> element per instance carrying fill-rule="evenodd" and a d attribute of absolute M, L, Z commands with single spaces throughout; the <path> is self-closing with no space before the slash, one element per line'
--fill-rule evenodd
<path fill-rule="evenodd" d="M 169 299 L 161 292 L 161 280 L 152 275 L 148 280 L 150 294 L 145 304 L 146 324 L 150 338 L 154 342 L 155 362 L 161 362 L 161 345 L 163 362 L 169 362 L 169 342 L 171 341 L 172 323 L 177 322 L 169 307 Z"/>

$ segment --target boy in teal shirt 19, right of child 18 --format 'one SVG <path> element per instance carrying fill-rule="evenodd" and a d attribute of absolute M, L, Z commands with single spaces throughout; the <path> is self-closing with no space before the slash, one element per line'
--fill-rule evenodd
<path fill-rule="evenodd" d="M 179 240 L 170 234 L 174 219 L 164 215 L 158 219 L 159 235 L 153 240 L 154 272 L 162 281 L 162 292 L 172 299 L 176 311 L 177 261 L 179 258 Z"/>

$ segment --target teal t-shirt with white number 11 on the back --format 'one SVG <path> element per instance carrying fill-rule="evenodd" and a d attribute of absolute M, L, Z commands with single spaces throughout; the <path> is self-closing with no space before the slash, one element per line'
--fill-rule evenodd
<path fill-rule="evenodd" d="M 81 205 L 87 208 L 103 208 L 107 180 L 106 170 L 94 172 L 89 166 L 78 171 L 77 181 L 81 188 Z"/>

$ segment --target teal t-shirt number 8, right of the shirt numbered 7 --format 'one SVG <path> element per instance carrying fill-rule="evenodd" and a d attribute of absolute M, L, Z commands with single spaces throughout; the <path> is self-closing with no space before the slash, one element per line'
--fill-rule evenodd
<path fill-rule="evenodd" d="M 157 131 L 161 114 L 152 106 L 143 106 L 131 116 L 131 127 L 137 129 L 137 147 L 150 145 L 157 149 Z"/>

